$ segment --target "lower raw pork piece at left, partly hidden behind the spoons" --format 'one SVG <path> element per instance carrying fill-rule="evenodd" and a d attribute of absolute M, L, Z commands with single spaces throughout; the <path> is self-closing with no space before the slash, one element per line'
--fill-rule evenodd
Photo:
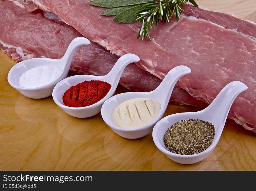
<path fill-rule="evenodd" d="M 68 44 L 81 36 L 74 28 L 61 22 L 55 14 L 40 10 L 30 13 L 20 4 L 17 6 L 8 1 L 0 1 L 0 10 L 0 48 L 17 61 L 34 57 L 61 58 Z M 35 10 L 33 5 L 30 4 L 29 10 Z M 117 59 L 118 56 L 91 42 L 89 46 L 77 50 L 70 70 L 79 74 L 105 75 Z M 159 78 L 135 64 L 127 66 L 120 80 L 122 86 L 136 91 L 154 90 L 160 82 Z M 175 88 L 172 100 L 198 107 L 206 106 L 181 88 Z"/>

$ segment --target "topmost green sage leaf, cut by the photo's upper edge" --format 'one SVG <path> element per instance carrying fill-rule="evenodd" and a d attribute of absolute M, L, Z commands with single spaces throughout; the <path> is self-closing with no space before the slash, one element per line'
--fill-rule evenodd
<path fill-rule="evenodd" d="M 90 5 L 97 7 L 115 8 L 129 5 L 139 5 L 147 3 L 148 0 L 94 0 L 88 1 Z"/>

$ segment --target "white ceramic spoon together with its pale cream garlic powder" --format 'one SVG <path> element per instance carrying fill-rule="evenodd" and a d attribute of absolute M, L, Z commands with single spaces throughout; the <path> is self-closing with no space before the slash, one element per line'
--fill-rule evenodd
<path fill-rule="evenodd" d="M 190 72 L 186 66 L 177 66 L 151 92 L 127 92 L 109 98 L 101 108 L 103 120 L 124 138 L 136 139 L 149 134 L 163 117 L 175 84 Z"/>

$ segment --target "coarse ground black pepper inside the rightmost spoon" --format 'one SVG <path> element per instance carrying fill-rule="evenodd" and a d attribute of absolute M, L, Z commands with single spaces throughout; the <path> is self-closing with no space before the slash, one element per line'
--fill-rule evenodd
<path fill-rule="evenodd" d="M 166 131 L 163 142 L 168 151 L 197 154 L 207 149 L 215 135 L 214 125 L 200 119 L 186 119 L 175 123 Z"/>

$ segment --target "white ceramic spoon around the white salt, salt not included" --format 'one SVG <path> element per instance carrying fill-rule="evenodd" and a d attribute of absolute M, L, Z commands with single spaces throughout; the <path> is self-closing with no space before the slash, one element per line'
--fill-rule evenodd
<path fill-rule="evenodd" d="M 10 69 L 8 73 L 8 82 L 13 88 L 15 88 L 18 92 L 26 97 L 34 99 L 48 97 L 52 94 L 54 86 L 63 78 L 67 77 L 75 51 L 79 47 L 88 44 L 90 44 L 90 41 L 87 38 L 77 37 L 72 40 L 72 42 L 70 42 L 65 55 L 61 59 L 31 58 L 19 62 Z M 54 65 L 59 67 L 60 69 L 62 69 L 62 74 L 58 78 L 56 78 L 56 80 L 37 88 L 23 88 L 19 85 L 19 77 L 24 72 L 28 71 L 31 68 L 45 65 Z"/>

